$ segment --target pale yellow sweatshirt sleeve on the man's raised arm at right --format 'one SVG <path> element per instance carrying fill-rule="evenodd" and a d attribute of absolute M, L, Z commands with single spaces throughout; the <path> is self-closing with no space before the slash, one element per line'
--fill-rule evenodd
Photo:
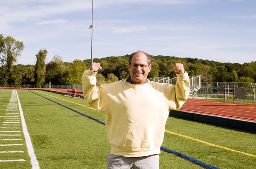
<path fill-rule="evenodd" d="M 169 110 L 179 110 L 189 97 L 190 81 L 187 72 L 184 74 L 176 74 L 176 85 L 169 85 L 166 92 L 169 95 Z M 175 94 L 174 94 L 175 93 Z"/>

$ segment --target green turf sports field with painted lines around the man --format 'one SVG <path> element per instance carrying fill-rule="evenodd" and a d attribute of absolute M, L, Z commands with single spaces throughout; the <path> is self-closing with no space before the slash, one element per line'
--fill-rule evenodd
<path fill-rule="evenodd" d="M 105 126 L 41 96 L 101 121 L 105 121 L 104 114 L 90 109 L 83 99 L 40 90 L 31 91 L 34 93 L 28 90 L 17 90 L 17 93 L 40 168 L 105 169 L 110 152 Z M 11 95 L 12 90 L 0 90 L 0 99 L 10 99 Z M 5 115 L 9 103 L 2 100 L 0 116 Z M 0 117 L 1 127 L 3 121 L 4 117 Z M 0 146 L 0 152 L 15 150 L 24 153 L 0 153 L 0 160 L 26 161 L 0 162 L 0 169 L 32 167 L 23 133 L 20 134 L 18 138 L 22 141 L 13 141 L 12 144 L 23 146 Z M 9 138 L 0 136 L 0 144 L 10 144 L 10 141 L 3 141 Z M 162 146 L 220 169 L 255 169 L 256 166 L 255 132 L 169 117 Z M 161 151 L 160 169 L 200 168 L 183 158 Z"/>

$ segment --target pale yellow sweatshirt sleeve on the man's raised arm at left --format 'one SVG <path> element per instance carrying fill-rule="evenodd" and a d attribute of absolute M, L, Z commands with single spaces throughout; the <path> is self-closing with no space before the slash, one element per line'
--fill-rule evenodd
<path fill-rule="evenodd" d="M 97 72 L 92 72 L 91 70 L 85 70 L 82 76 L 82 86 L 84 99 L 88 104 L 101 112 L 104 112 L 105 99 L 103 88 L 96 86 L 96 74 Z"/>

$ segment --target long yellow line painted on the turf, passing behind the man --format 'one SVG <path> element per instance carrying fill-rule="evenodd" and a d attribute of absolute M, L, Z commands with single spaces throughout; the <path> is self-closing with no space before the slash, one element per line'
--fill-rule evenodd
<path fill-rule="evenodd" d="M 38 91 L 37 91 L 37 92 L 38 92 Z M 41 93 L 41 92 L 39 92 L 39 93 Z M 46 94 L 46 93 L 42 93 L 42 94 L 48 95 L 48 94 Z M 52 96 L 52 95 L 48 95 L 48 96 Z M 55 96 L 52 96 L 52 97 L 55 97 Z M 61 98 L 59 98 L 59 97 L 55 97 L 55 98 L 61 99 Z M 65 100 L 65 99 L 61 99 L 61 100 Z M 65 100 L 65 101 L 68 101 L 68 100 Z M 78 103 L 75 103 L 75 102 L 73 102 L 73 101 L 69 101 L 69 102 L 74 103 L 74 104 L 78 104 Z M 82 104 L 78 104 L 78 105 L 83 106 L 83 107 L 87 107 L 87 106 L 84 106 L 84 105 L 82 105 Z M 92 107 L 87 107 L 87 108 L 93 109 Z M 96 110 L 96 109 L 93 109 L 93 110 Z M 99 111 L 99 110 L 97 110 L 97 111 Z M 218 147 L 218 148 L 221 148 L 221 149 L 226 149 L 226 150 L 233 151 L 233 152 L 239 152 L 239 153 L 242 153 L 242 154 L 244 154 L 244 155 L 249 155 L 249 156 L 251 156 L 251 157 L 255 157 L 255 158 L 256 158 L 256 155 L 253 155 L 253 154 L 249 154 L 249 153 L 246 153 L 246 152 L 240 152 L 240 151 L 237 151 L 237 150 L 234 150 L 234 149 L 230 149 L 230 148 L 227 148 L 227 147 L 224 147 L 224 146 L 218 146 L 218 145 L 216 145 L 216 144 L 208 143 L 208 142 L 206 142 L 206 141 L 198 140 L 198 139 L 196 139 L 196 138 L 192 138 L 192 137 L 189 137 L 189 136 L 186 136 L 186 135 L 178 134 L 178 133 L 176 133 L 176 132 L 170 132 L 170 131 L 168 131 L 168 130 L 165 130 L 165 132 L 168 132 L 168 133 L 174 134 L 174 135 L 178 135 L 178 136 L 181 136 L 181 137 L 189 138 L 189 139 L 191 139 L 191 140 L 195 140 L 195 141 L 198 141 L 198 142 L 200 142 L 200 143 L 208 144 L 208 145 L 210 145 L 210 146 L 215 146 L 215 147 Z"/>

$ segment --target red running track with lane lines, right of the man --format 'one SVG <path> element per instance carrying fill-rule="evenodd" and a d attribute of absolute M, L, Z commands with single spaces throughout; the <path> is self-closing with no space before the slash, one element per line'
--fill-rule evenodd
<path fill-rule="evenodd" d="M 180 111 L 256 122 L 256 104 L 188 99 Z"/>

